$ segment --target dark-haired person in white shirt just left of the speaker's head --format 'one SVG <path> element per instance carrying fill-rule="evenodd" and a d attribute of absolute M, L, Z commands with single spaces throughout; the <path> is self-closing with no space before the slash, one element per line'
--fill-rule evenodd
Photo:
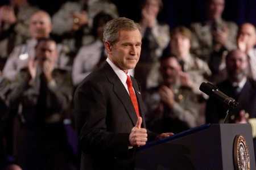
<path fill-rule="evenodd" d="M 77 86 L 87 75 L 106 60 L 105 46 L 103 44 L 103 29 L 105 24 L 113 19 L 111 15 L 100 12 L 93 20 L 92 35 L 94 42 L 84 45 L 79 50 L 72 69 L 74 86 Z"/>

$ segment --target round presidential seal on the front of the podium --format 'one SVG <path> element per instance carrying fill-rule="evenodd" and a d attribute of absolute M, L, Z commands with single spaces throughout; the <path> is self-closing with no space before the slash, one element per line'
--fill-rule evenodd
<path fill-rule="evenodd" d="M 234 167 L 236 170 L 250 169 L 249 150 L 242 135 L 236 135 L 234 139 Z"/>

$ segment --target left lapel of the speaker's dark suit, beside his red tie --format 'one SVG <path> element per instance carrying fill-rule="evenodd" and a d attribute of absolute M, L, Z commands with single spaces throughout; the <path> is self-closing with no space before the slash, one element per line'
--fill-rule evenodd
<path fill-rule="evenodd" d="M 138 118 L 126 88 L 123 86 L 121 80 L 107 62 L 104 63 L 102 69 L 104 70 L 109 82 L 113 84 L 114 94 L 117 95 L 118 99 L 123 104 L 123 107 L 126 109 L 127 114 L 135 126 Z"/>

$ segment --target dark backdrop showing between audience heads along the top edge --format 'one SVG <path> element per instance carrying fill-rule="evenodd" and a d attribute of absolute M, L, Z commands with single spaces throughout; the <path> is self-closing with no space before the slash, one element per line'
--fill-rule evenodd
<path fill-rule="evenodd" d="M 43 10 L 54 14 L 67 0 L 29 0 Z M 166 22 L 171 28 L 177 25 L 189 26 L 191 22 L 203 21 L 205 17 L 205 0 L 162 0 L 163 8 L 159 14 L 160 22 Z M 117 5 L 120 16 L 134 19 L 140 18 L 141 1 L 112 0 Z M 0 0 L 0 5 L 8 0 Z M 226 0 L 223 18 L 238 25 L 250 22 L 256 25 L 256 0 Z"/>

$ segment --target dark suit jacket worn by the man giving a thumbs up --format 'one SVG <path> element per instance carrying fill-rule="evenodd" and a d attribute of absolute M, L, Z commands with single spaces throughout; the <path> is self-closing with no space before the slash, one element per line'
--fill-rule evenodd
<path fill-rule="evenodd" d="M 139 86 L 133 78 L 132 82 L 145 127 Z M 137 115 L 112 67 L 105 62 L 87 76 L 77 87 L 74 100 L 82 150 L 81 169 L 132 169 L 129 134 L 137 122 Z M 152 133 L 148 135 L 155 137 Z"/>

